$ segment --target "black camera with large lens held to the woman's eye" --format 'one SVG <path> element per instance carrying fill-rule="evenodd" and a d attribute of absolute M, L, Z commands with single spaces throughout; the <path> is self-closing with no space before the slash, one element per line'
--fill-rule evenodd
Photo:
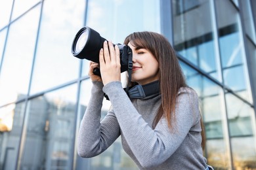
<path fill-rule="evenodd" d="M 75 35 L 72 43 L 72 54 L 79 59 L 88 59 L 99 63 L 100 48 L 103 48 L 103 42 L 106 41 L 100 34 L 90 27 L 82 27 Z M 117 45 L 120 51 L 121 73 L 133 69 L 133 52 L 125 44 Z M 100 76 L 100 70 L 96 68 L 93 73 Z"/>

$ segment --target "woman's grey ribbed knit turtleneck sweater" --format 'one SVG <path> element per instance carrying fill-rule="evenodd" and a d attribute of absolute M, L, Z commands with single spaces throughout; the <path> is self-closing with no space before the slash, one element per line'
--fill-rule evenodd
<path fill-rule="evenodd" d="M 100 122 L 104 92 L 112 109 Z M 102 82 L 93 82 L 91 99 L 79 129 L 79 156 L 96 156 L 121 135 L 123 149 L 140 169 L 205 169 L 196 92 L 190 88 L 179 90 L 176 119 L 171 129 L 165 116 L 152 129 L 160 103 L 161 95 L 130 100 L 121 82 L 110 82 L 104 87 Z"/>

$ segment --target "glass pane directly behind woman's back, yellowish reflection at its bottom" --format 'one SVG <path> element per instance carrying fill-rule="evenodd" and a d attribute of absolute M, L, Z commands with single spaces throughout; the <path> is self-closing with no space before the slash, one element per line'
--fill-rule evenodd
<path fill-rule="evenodd" d="M 188 86 L 200 97 L 206 136 L 205 156 L 207 163 L 215 169 L 230 168 L 228 133 L 225 126 L 225 112 L 222 89 L 181 62 Z"/>

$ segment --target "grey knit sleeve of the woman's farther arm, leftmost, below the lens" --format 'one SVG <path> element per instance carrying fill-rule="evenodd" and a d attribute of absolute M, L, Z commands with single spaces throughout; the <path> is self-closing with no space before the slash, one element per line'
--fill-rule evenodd
<path fill-rule="evenodd" d="M 100 122 L 104 97 L 102 87 L 102 82 L 93 82 L 91 98 L 79 127 L 77 153 L 84 158 L 104 152 L 120 135 L 119 124 L 113 112 L 108 112 Z"/>

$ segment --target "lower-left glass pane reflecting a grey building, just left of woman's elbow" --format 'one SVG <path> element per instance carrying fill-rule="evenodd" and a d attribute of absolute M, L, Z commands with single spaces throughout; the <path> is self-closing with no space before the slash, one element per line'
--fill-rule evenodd
<path fill-rule="evenodd" d="M 77 84 L 28 103 L 20 169 L 72 169 Z"/>

